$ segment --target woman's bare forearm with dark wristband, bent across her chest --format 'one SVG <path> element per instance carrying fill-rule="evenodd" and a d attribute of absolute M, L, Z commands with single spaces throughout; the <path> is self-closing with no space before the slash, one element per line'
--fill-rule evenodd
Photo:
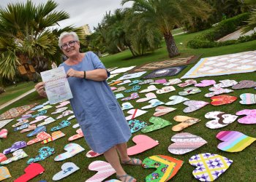
<path fill-rule="evenodd" d="M 108 74 L 105 69 L 94 69 L 84 72 L 75 71 L 74 69 L 70 68 L 69 71 L 67 71 L 67 76 L 78 77 L 80 79 L 86 78 L 94 81 L 104 81 L 105 79 L 108 79 Z"/>

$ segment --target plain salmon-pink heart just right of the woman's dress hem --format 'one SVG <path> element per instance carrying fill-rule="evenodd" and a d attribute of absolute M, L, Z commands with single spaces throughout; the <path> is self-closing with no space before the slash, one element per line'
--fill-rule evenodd
<path fill-rule="evenodd" d="M 132 138 L 132 141 L 136 143 L 136 145 L 127 149 L 127 154 L 129 156 L 140 154 L 143 151 L 147 151 L 148 149 L 152 149 L 159 145 L 158 141 L 155 141 L 147 135 L 135 135 L 135 137 Z"/>

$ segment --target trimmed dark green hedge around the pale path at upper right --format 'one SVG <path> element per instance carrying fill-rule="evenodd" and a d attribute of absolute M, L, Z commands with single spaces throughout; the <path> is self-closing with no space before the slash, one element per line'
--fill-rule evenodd
<path fill-rule="evenodd" d="M 233 33 L 242 25 L 246 25 L 246 20 L 249 19 L 249 12 L 237 15 L 236 17 L 231 17 L 226 20 L 222 20 L 218 25 L 216 25 L 211 31 L 205 33 L 201 36 L 195 37 L 195 39 L 189 41 L 187 45 L 193 49 L 198 48 L 208 48 L 208 47 L 220 47 L 230 44 L 238 44 L 240 41 L 244 40 L 230 40 L 216 42 L 218 39 L 226 36 L 229 33 Z M 251 38 L 246 38 L 247 41 L 253 40 Z"/>

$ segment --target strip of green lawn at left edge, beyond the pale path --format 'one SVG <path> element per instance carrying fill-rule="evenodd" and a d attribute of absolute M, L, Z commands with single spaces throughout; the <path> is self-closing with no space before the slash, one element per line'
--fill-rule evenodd
<path fill-rule="evenodd" d="M 27 92 L 34 88 L 34 82 L 20 82 L 15 85 L 10 85 L 5 87 L 5 92 L 0 95 L 0 106 L 8 101 L 17 98 L 18 96 L 22 95 L 24 92 Z"/>

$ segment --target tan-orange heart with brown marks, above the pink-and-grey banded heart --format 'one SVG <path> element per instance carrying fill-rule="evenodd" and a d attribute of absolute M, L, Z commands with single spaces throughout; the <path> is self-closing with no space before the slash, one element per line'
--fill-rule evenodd
<path fill-rule="evenodd" d="M 175 116 L 173 119 L 176 122 L 181 122 L 180 124 L 177 124 L 172 127 L 172 130 L 175 132 L 184 130 L 184 128 L 189 127 L 192 124 L 195 124 L 201 121 L 200 119 L 189 117 L 189 116 Z"/>

